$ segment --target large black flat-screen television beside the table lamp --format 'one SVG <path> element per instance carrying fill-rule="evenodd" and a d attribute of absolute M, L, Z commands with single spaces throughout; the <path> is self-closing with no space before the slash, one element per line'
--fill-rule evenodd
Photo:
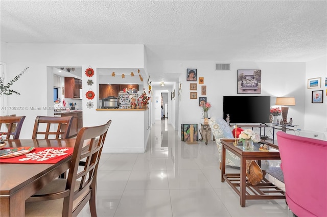
<path fill-rule="evenodd" d="M 269 123 L 270 96 L 224 96 L 223 111 L 230 123 Z"/>

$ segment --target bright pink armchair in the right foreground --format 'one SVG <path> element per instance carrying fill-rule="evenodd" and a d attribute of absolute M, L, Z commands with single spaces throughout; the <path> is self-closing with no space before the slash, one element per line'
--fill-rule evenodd
<path fill-rule="evenodd" d="M 297 216 L 327 216 L 327 141 L 277 132 L 286 202 Z"/>

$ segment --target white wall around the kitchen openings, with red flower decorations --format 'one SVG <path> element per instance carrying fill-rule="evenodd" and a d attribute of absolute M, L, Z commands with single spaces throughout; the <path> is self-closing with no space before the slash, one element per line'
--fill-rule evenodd
<path fill-rule="evenodd" d="M 8 105 L 22 107 L 24 110 L 8 111 L 8 115 L 26 115 L 20 138 L 32 137 L 33 125 L 37 115 L 53 115 L 53 110 L 33 110 L 32 107 L 53 106 L 53 76 L 48 66 L 79 66 L 84 72 L 89 66 L 95 69 L 92 90 L 98 97 L 97 68 L 144 68 L 144 45 L 104 45 L 104 44 L 20 44 L 2 43 L 1 62 L 7 65 L 8 78 L 20 71 L 29 70 L 20 77 L 12 88 L 21 95 L 10 95 Z M 51 74 L 51 75 L 50 75 Z M 87 77 L 83 73 L 83 95 L 89 90 Z M 145 82 L 147 77 L 145 77 Z M 51 92 L 51 93 L 50 93 Z M 83 99 L 83 125 L 98 125 L 107 122 L 94 118 L 94 109 L 86 107 Z M 124 121 L 124 120 L 121 120 Z"/>

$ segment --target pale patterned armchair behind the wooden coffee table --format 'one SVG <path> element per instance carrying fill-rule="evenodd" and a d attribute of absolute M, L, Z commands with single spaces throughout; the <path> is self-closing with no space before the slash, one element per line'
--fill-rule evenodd
<path fill-rule="evenodd" d="M 221 139 L 232 139 L 234 138 L 227 122 L 222 118 L 211 118 L 208 120 L 208 124 L 211 131 L 216 139 L 218 148 L 219 162 L 221 169 Z M 232 167 L 240 167 L 240 158 L 230 151 L 226 150 L 226 165 Z"/>

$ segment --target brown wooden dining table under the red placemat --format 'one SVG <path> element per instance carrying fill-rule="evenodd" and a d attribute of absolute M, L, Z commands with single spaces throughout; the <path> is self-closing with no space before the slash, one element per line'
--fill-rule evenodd
<path fill-rule="evenodd" d="M 74 147 L 75 139 L 9 140 L 9 147 Z M 69 155 L 56 164 L 0 164 L 0 216 L 25 216 L 25 200 L 65 172 Z"/>

